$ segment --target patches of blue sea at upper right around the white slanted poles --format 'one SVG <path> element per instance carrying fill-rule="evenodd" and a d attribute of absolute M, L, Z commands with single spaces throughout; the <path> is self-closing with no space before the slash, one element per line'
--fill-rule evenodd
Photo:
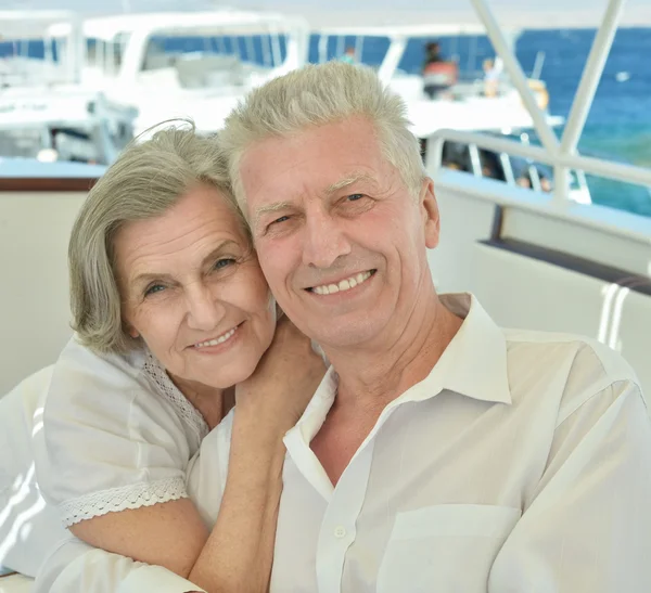
<path fill-rule="evenodd" d="M 546 52 L 550 111 L 566 117 L 595 31 L 528 31 L 518 43 L 525 69 Z M 597 89 L 579 152 L 651 168 L 651 29 L 620 29 Z M 618 80 L 623 78 L 622 80 Z M 651 216 L 651 189 L 588 178 L 599 204 Z"/>

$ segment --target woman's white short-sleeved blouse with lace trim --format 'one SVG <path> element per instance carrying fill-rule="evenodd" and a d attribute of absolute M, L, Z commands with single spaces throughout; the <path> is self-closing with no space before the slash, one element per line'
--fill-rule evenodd
<path fill-rule="evenodd" d="M 177 500 L 207 433 L 151 353 L 98 354 L 73 337 L 35 435 L 38 482 L 66 526 Z"/>

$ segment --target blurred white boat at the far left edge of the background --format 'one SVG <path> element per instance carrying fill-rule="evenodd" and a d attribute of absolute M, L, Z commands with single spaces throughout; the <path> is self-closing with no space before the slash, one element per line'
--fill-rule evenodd
<path fill-rule="evenodd" d="M 53 29 L 65 30 L 53 37 Z M 15 52 L 0 60 L 0 156 L 111 163 L 133 138 L 137 111 L 78 85 L 80 21 L 68 11 L 2 11 Z M 28 55 L 42 41 L 43 59 Z"/>

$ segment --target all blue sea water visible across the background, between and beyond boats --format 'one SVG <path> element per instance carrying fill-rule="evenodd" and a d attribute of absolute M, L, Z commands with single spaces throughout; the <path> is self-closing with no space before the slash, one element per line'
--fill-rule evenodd
<path fill-rule="evenodd" d="M 526 73 L 531 73 L 538 52 L 545 53 L 541 78 L 550 94 L 550 112 L 567 117 L 578 86 L 583 67 L 590 51 L 596 31 L 590 29 L 526 30 L 516 42 L 516 55 Z M 255 41 L 255 51 L 261 61 L 261 44 Z M 328 57 L 336 57 L 344 44 L 354 39 L 332 38 Z M 420 72 L 425 40 L 411 40 L 400 68 Z M 442 51 L 458 56 L 461 68 L 481 72 L 482 61 L 494 51 L 486 37 L 439 39 Z M 203 41 L 165 40 L 169 50 L 203 49 Z M 196 47 L 194 47 L 196 46 Z M 367 39 L 362 61 L 378 65 L 388 40 Z M 227 48 L 228 50 L 228 48 Z M 10 43 L 0 43 L 0 56 L 11 53 Z M 284 47 L 282 48 L 284 53 Z M 29 53 L 42 56 L 42 46 L 30 44 Z M 616 34 L 603 77 L 597 90 L 579 151 L 591 156 L 613 158 L 651 168 L 651 28 L 624 28 Z M 310 61 L 319 60 L 318 38 L 312 37 Z M 561 133 L 562 128 L 557 129 Z M 588 178 L 592 199 L 644 216 L 651 216 L 651 189 L 623 184 L 601 178 Z"/>

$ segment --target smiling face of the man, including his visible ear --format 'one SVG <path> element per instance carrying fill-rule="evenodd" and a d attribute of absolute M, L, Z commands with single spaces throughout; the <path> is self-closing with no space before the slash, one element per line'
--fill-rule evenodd
<path fill-rule="evenodd" d="M 431 180 L 413 196 L 361 117 L 260 141 L 240 173 L 263 272 L 290 319 L 324 347 L 397 340 L 433 292 Z"/>

